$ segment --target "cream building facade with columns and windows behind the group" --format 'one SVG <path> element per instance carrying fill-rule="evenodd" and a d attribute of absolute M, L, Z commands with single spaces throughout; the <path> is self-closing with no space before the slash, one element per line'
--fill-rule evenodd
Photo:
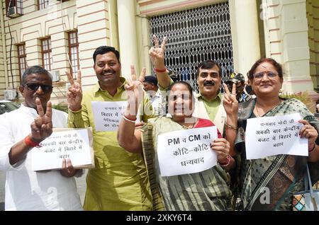
<path fill-rule="evenodd" d="M 54 103 L 65 101 L 65 71 L 82 71 L 83 88 L 97 79 L 92 54 L 100 45 L 121 52 L 152 74 L 152 35 L 168 37 L 166 64 L 196 88 L 199 62 L 214 59 L 223 80 L 246 74 L 259 57 L 284 66 L 284 92 L 319 91 L 319 1 L 315 0 L 2 0 L 0 98 L 21 99 L 26 67 L 54 75 Z"/>

